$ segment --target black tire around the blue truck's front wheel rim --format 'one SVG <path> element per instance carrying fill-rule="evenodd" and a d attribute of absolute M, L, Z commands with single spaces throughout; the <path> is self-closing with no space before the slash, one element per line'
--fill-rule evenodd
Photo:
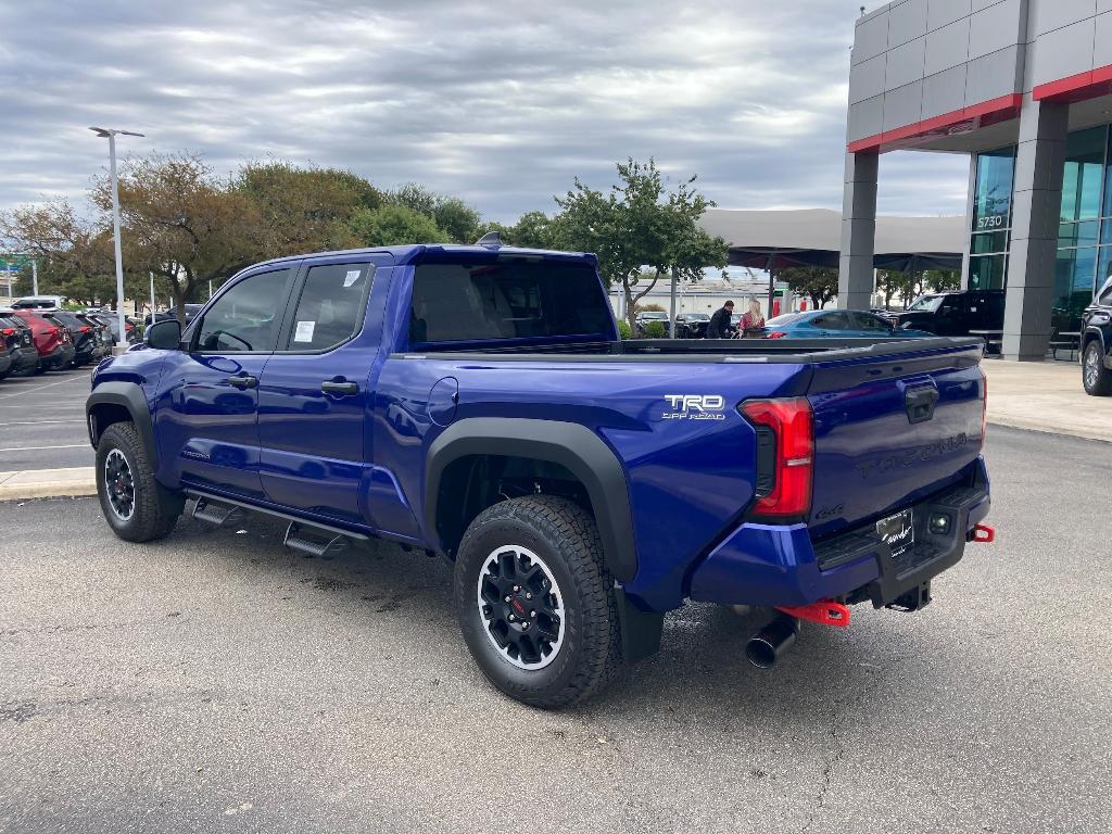
<path fill-rule="evenodd" d="M 113 449 L 122 453 L 133 484 L 135 508 L 126 520 L 112 509 L 106 485 L 105 461 Z M 180 496 L 155 480 L 147 449 L 131 423 L 113 423 L 100 436 L 97 444 L 97 496 L 108 526 L 125 542 L 163 538 L 173 529 L 185 507 Z"/>

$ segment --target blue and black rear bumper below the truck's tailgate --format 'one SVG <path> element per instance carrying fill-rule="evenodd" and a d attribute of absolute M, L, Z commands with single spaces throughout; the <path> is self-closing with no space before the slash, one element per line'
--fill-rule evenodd
<path fill-rule="evenodd" d="M 969 532 L 989 515 L 989 479 L 977 458 L 969 483 L 912 505 L 915 545 L 893 557 L 864 525 L 812 544 L 806 525 L 743 524 L 695 569 L 691 598 L 761 606 L 807 605 L 823 599 L 871 599 L 880 607 L 955 565 Z M 950 518 L 932 534 L 931 516 Z"/>

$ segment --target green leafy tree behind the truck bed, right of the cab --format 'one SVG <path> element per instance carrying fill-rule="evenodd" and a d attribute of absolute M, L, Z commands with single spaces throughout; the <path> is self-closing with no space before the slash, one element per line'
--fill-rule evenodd
<path fill-rule="evenodd" d="M 692 188 L 694 177 L 668 192 L 653 159 L 643 163 L 631 158 L 616 167 L 618 182 L 608 195 L 577 178 L 563 199 L 556 198 L 562 211 L 552 224 L 553 241 L 595 252 L 607 286 L 620 285 L 633 328 L 637 301 L 663 275 L 674 268 L 681 278 L 698 280 L 704 267 L 726 265 L 727 247 L 697 225 L 714 202 Z M 649 269 L 647 280 L 641 277 L 642 267 Z"/>

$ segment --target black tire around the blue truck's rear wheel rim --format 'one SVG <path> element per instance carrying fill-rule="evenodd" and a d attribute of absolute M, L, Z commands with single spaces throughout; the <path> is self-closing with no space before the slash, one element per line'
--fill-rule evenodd
<path fill-rule="evenodd" d="M 520 668 L 492 643 L 477 604 L 479 574 L 493 553 L 526 547 L 548 567 L 563 600 L 563 643 L 542 668 Z M 595 519 L 566 498 L 536 495 L 488 507 L 459 545 L 455 606 L 464 641 L 483 674 L 506 695 L 543 708 L 599 692 L 622 668 L 614 579 L 603 566 Z"/>

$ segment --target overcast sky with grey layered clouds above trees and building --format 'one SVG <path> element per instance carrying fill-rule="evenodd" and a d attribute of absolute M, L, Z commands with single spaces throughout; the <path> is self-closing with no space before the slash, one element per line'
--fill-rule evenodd
<path fill-rule="evenodd" d="M 653 156 L 723 208 L 841 207 L 858 0 L 0 0 L 0 209 L 121 150 L 419 181 L 493 219 Z M 873 8 L 876 3 L 870 3 Z M 961 157 L 881 160 L 881 210 L 964 210 Z"/>

